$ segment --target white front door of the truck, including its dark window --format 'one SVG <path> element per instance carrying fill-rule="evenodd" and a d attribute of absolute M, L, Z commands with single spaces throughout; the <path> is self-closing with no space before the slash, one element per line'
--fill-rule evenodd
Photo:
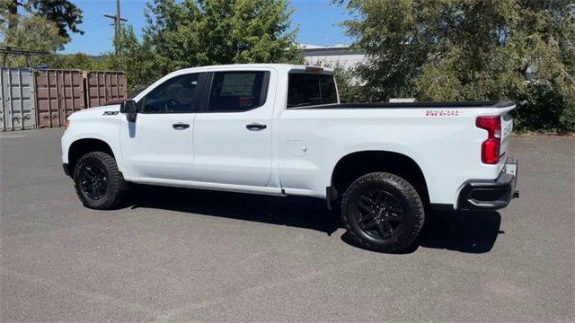
<path fill-rule="evenodd" d="M 190 180 L 193 122 L 205 74 L 180 74 L 137 100 L 137 118 L 121 118 L 120 144 L 130 179 Z"/>

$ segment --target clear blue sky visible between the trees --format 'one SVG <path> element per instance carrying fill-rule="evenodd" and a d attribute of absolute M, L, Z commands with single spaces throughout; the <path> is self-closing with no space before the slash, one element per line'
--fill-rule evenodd
<path fill-rule="evenodd" d="M 99 55 L 112 50 L 114 28 L 112 20 L 104 14 L 115 14 L 115 0 L 73 0 L 84 13 L 84 22 L 79 26 L 84 35 L 73 34 L 63 53 L 82 52 Z M 345 8 L 332 4 L 331 0 L 291 0 L 295 9 L 292 27 L 299 26 L 296 41 L 303 44 L 332 46 L 349 44 L 351 39 L 344 35 L 345 29 L 339 23 L 349 15 Z M 144 27 L 146 0 L 121 0 L 120 15 L 128 19 L 137 34 Z"/>

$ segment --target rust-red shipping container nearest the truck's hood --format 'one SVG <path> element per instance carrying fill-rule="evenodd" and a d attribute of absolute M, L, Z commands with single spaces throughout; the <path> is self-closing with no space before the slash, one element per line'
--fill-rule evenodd
<path fill-rule="evenodd" d="M 85 72 L 84 78 L 88 108 L 128 98 L 128 80 L 124 72 Z"/>

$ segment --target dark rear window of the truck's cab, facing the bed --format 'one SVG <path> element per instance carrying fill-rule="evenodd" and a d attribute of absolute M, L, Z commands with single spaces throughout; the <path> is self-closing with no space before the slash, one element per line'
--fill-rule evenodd
<path fill-rule="evenodd" d="M 337 104 L 332 74 L 293 71 L 288 74 L 288 109 Z"/>

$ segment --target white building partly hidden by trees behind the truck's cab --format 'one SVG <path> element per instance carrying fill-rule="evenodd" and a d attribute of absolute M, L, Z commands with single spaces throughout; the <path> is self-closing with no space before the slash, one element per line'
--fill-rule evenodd
<path fill-rule="evenodd" d="M 352 49 L 347 45 L 335 45 L 332 47 L 314 46 L 301 44 L 305 65 L 335 66 L 338 63 L 345 67 L 355 67 L 366 60 L 366 52 L 363 49 Z"/>

